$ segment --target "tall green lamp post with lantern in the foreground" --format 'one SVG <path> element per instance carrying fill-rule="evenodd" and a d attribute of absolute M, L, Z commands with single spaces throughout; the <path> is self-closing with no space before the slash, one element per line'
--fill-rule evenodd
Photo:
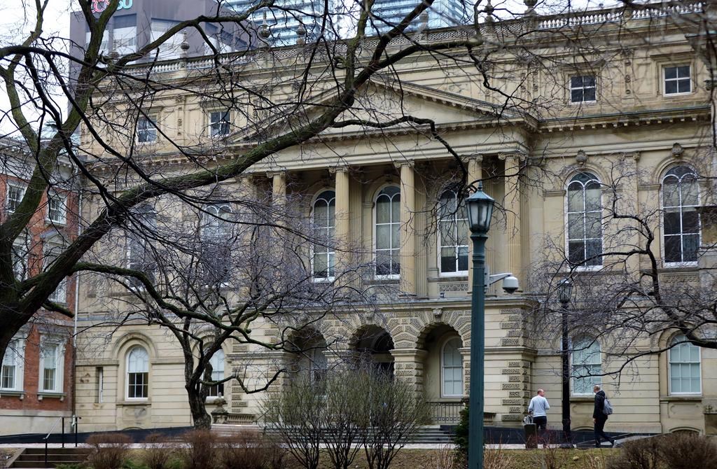
<path fill-rule="evenodd" d="M 468 468 L 483 469 L 483 387 L 485 356 L 485 242 L 493 200 L 483 184 L 466 199 L 470 239 L 473 240 L 473 294 L 470 309 L 470 397 L 468 403 Z"/>

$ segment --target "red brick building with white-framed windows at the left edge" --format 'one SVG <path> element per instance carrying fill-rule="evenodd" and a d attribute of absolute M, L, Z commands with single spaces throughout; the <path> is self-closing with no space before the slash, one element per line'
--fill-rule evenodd
<path fill-rule="evenodd" d="M 0 155 L 0 204 L 6 217 L 24 196 L 34 159 L 22 143 L 10 138 L 0 142 Z M 74 174 L 67 159 L 60 158 L 40 209 L 24 236 L 14 241 L 16 280 L 41 273 L 77 235 Z M 50 300 L 75 311 L 75 291 L 75 278 L 67 278 Z M 15 336 L 0 370 L 0 434 L 47 432 L 60 417 L 73 414 L 73 327 L 69 317 L 41 309 Z"/>

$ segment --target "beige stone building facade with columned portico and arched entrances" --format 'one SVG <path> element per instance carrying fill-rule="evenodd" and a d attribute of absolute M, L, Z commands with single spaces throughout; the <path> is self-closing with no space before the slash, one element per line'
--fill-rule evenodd
<path fill-rule="evenodd" d="M 699 2 L 685 5 L 684 11 L 675 10 L 675 14 L 703 12 Z M 690 186 L 702 197 L 697 202 L 685 199 L 669 207 L 663 202 L 665 184 L 683 184 L 688 181 L 683 179 L 685 174 L 710 171 L 704 164 L 704 155 L 711 150 L 713 118 L 711 91 L 705 86 L 706 64 L 673 16 L 650 16 L 644 11 L 632 15 L 605 10 L 576 16 L 572 22 L 563 16 L 526 19 L 537 31 L 529 52 L 552 65 L 533 67 L 531 60 L 521 60 L 508 44 L 486 66 L 500 77 L 501 90 L 513 90 L 522 103 L 533 103 L 527 110 L 501 108 L 503 96 L 483 87 L 475 67 L 458 62 L 440 62 L 445 66 L 436 67 L 430 55 L 397 63 L 400 82 L 374 80 L 366 90 L 369 108 L 386 115 L 432 119 L 460 156 L 467 181 L 483 179 L 486 191 L 504 209 L 490 230 L 488 264 L 491 273 L 516 275 L 521 289 L 508 294 L 494 285 L 488 290 L 488 425 L 520 425 L 528 399 L 538 388 L 546 389 L 555 409 L 549 422 L 560 422 L 559 331 L 556 326 L 539 336 L 532 333 L 527 313 L 541 300 L 541 292 L 531 290 L 535 285 L 531 275 L 545 254 L 546 240 L 577 260 L 585 260 L 591 250 L 602 247 L 602 231 L 590 235 L 586 232 L 590 227 L 583 224 L 583 231 L 575 232 L 567 221 L 573 214 L 589 219 L 592 212 L 601 212 L 587 208 L 591 197 L 597 196 L 602 203 L 608 197 L 602 189 L 595 191 L 594 181 L 611 181 L 616 171 L 633 174 L 622 181 L 621 191 L 640 207 L 677 207 L 683 213 L 708 204 L 704 185 Z M 573 54 L 561 44 L 538 40 L 541 31 L 569 24 L 594 28 L 592 40 L 599 47 Z M 485 28 L 486 37 L 500 39 L 498 25 Z M 460 30 L 437 30 L 427 33 L 424 40 L 447 40 L 461 34 Z M 244 69 L 244 80 L 258 87 L 267 79 L 262 67 L 272 64 L 274 71 L 290 70 L 290 58 L 301 52 L 293 48 L 257 52 L 268 53 L 275 53 L 274 60 L 257 55 Z M 285 69 L 280 67 L 282 58 L 288 63 Z M 193 63 L 205 62 L 190 60 L 183 67 L 167 63 L 157 76 L 181 82 L 193 76 Z M 196 67 L 199 74 L 200 65 Z M 279 86 L 272 93 L 289 95 L 293 90 Z M 162 136 L 154 136 L 148 158 L 153 164 L 163 161 L 166 171 L 181 171 L 181 158 L 173 153 L 170 140 L 206 141 L 204 129 L 212 123 L 212 104 L 174 91 L 157 95 L 152 106 L 149 111 L 156 115 Z M 497 113 L 500 119 L 495 118 Z M 232 115 L 237 130 L 227 132 L 227 158 L 246 148 L 245 125 L 242 115 Z M 92 141 L 83 138 L 91 148 Z M 110 178 L 114 170 L 98 165 L 95 171 Z M 326 131 L 322 138 L 281 151 L 271 161 L 252 167 L 250 174 L 222 184 L 237 193 L 266 189 L 275 201 L 297 195 L 300 209 L 308 216 L 316 213 L 317 204 L 333 207 L 336 239 L 359 247 L 354 260 L 374 265 L 372 278 L 364 280 L 364 285 L 389 285 L 395 294 L 377 295 L 375 304 L 362 313 L 337 311 L 336 316 L 324 318 L 317 328 L 326 342 L 328 338 L 343 340 L 331 341 L 333 346 L 322 352 L 322 358 L 313 357 L 314 361 L 329 364 L 347 351 L 372 351 L 377 364 L 412 382 L 432 403 L 436 423 L 455 422 L 462 400 L 470 394 L 470 246 L 465 217 L 460 210 L 442 214 L 435 209 L 440 201 L 460 203 L 452 190 L 460 174 L 461 164 L 441 141 L 415 128 L 348 128 Z M 582 208 L 571 206 L 573 196 L 582 197 Z M 386 212 L 386 207 L 396 209 Z M 442 235 L 442 223 L 456 229 L 455 236 Z M 386 242 L 384 227 L 396 238 L 394 243 Z M 678 281 L 698 278 L 705 267 L 701 259 L 707 257 L 698 255 L 697 247 L 709 252 L 712 240 L 701 235 L 699 225 L 695 231 L 686 223 L 678 232 L 660 233 L 655 249 L 660 252 L 663 274 Z M 678 244 L 675 236 L 680 238 Z M 596 242 L 600 243 L 597 248 Z M 346 261 L 345 253 L 333 254 L 337 266 Z M 89 325 L 100 313 L 108 312 L 106 305 L 98 310 L 95 298 L 109 293 L 89 286 L 81 290 L 80 323 Z M 122 293 L 112 295 L 123 298 Z M 93 328 L 83 340 L 95 344 L 109 332 Z M 179 384 L 184 362 L 171 336 L 142 324 L 112 332 L 103 347 L 87 346 L 87 352 L 81 350 L 78 356 L 77 412 L 83 426 L 114 430 L 189 425 L 186 394 Z M 271 336 L 275 331 L 265 324 L 254 333 Z M 669 343 L 673 336 L 660 340 Z M 599 344 L 592 346 L 585 352 L 589 355 L 585 366 L 602 371 L 615 366 L 604 359 L 607 352 Z M 294 359 L 288 352 L 228 344 L 222 356 L 224 370 L 245 369 L 257 381 Z M 646 356 L 636 364 L 619 381 L 605 378 L 602 382 L 615 408 L 610 430 L 716 432 L 711 420 L 711 409 L 717 407 L 714 351 L 688 346 Z M 133 387 L 137 374 L 146 380 L 139 396 Z M 593 382 L 589 380 L 572 380 L 575 429 L 592 427 L 592 396 L 585 392 Z M 245 395 L 230 384 L 224 391 L 234 421 L 260 418 L 261 394 Z"/>

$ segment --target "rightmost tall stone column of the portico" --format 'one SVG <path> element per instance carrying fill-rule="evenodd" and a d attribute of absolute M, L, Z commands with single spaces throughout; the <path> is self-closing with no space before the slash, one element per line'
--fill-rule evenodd
<path fill-rule="evenodd" d="M 518 171 L 521 168 L 522 153 L 501 153 L 505 159 L 505 236 L 508 245 L 508 272 L 518 278 L 521 288 L 525 283 L 521 256 L 521 186 Z"/>

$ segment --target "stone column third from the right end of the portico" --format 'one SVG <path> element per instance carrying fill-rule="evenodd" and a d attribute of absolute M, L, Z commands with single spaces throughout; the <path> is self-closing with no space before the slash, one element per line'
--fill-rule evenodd
<path fill-rule="evenodd" d="M 416 295 L 416 188 L 413 161 L 397 163 L 401 169 L 401 291 Z"/>

